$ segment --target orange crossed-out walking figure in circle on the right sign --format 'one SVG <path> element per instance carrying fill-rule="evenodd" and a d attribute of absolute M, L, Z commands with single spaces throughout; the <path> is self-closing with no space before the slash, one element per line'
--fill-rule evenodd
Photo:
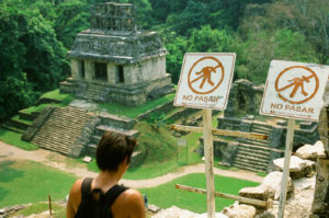
<path fill-rule="evenodd" d="M 292 104 L 303 104 L 317 93 L 319 79 L 309 68 L 293 66 L 281 71 L 275 80 L 279 97 Z"/>

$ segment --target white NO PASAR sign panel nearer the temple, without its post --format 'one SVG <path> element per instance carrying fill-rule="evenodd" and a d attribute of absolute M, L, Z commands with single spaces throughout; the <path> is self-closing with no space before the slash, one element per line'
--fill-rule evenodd
<path fill-rule="evenodd" d="M 225 110 L 235 60 L 234 53 L 185 54 L 173 104 Z"/>

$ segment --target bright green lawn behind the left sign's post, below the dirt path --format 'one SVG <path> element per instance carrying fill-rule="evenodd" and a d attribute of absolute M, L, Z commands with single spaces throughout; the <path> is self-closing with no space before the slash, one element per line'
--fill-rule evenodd
<path fill-rule="evenodd" d="M 179 177 L 157 187 L 141 188 L 139 191 L 147 195 L 149 204 L 155 204 L 160 208 L 178 206 L 195 213 L 206 213 L 206 195 L 175 190 L 175 184 L 206 188 L 205 175 L 196 173 Z M 259 184 L 254 182 L 215 175 L 216 192 L 238 195 L 242 187 L 257 185 Z M 226 198 L 216 198 L 216 211 L 220 211 L 224 207 L 234 204 L 234 202 Z"/>

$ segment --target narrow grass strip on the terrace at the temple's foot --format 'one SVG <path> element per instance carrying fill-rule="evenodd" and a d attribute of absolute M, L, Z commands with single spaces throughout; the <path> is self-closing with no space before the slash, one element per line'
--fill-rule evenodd
<path fill-rule="evenodd" d="M 170 93 L 154 101 L 146 102 L 140 106 L 126 106 L 118 103 L 99 103 L 100 108 L 105 108 L 110 114 L 118 116 L 126 116 L 131 118 L 137 117 L 139 114 L 147 112 L 148 110 L 155 108 L 161 104 L 168 103 L 174 99 L 175 93 Z"/>

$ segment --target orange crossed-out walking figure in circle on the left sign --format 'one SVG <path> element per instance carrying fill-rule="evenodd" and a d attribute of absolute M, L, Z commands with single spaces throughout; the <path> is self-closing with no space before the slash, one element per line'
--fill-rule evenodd
<path fill-rule="evenodd" d="M 195 61 L 188 76 L 189 88 L 197 94 L 215 91 L 224 79 L 224 67 L 214 57 L 203 57 Z"/>

